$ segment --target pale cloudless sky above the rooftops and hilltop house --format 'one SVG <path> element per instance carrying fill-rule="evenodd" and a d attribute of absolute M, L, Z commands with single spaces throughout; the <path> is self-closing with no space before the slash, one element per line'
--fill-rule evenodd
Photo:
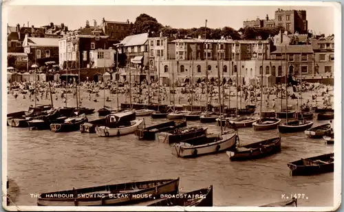
<path fill-rule="evenodd" d="M 39 27 L 50 22 L 60 25 L 65 23 L 69 30 L 84 27 L 86 20 L 90 25 L 94 19 L 98 25 L 103 17 L 107 21 L 135 22 L 142 13 L 153 16 L 162 25 L 176 28 L 207 26 L 212 28 L 229 26 L 235 30 L 242 27 L 243 21 L 275 19 L 275 10 L 306 10 L 308 29 L 316 34 L 334 34 L 334 8 L 332 6 L 243 6 L 243 5 L 8 5 L 8 24 L 19 23 Z"/>

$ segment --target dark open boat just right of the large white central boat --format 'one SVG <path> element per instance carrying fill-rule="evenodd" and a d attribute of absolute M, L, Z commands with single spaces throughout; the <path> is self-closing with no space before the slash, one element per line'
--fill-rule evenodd
<path fill-rule="evenodd" d="M 275 137 L 264 141 L 250 143 L 227 151 L 230 161 L 245 161 L 255 158 L 262 158 L 281 150 L 281 137 Z"/>

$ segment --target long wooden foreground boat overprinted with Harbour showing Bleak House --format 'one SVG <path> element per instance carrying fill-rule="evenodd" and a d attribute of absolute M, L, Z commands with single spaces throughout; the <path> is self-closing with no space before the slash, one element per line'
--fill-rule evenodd
<path fill-rule="evenodd" d="M 83 189 L 41 193 L 39 206 L 105 206 L 147 201 L 162 194 L 178 193 L 179 178 L 127 182 Z"/>

